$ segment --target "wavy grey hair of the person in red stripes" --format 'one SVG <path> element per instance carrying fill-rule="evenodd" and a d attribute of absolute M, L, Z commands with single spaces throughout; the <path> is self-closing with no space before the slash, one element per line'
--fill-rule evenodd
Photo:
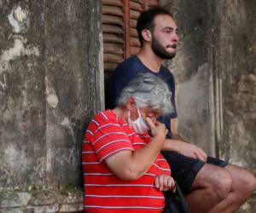
<path fill-rule="evenodd" d="M 161 114 L 173 112 L 172 92 L 166 82 L 153 73 L 139 73 L 132 78 L 119 95 L 118 106 L 125 106 L 131 96 L 138 108 L 151 107 Z"/>

